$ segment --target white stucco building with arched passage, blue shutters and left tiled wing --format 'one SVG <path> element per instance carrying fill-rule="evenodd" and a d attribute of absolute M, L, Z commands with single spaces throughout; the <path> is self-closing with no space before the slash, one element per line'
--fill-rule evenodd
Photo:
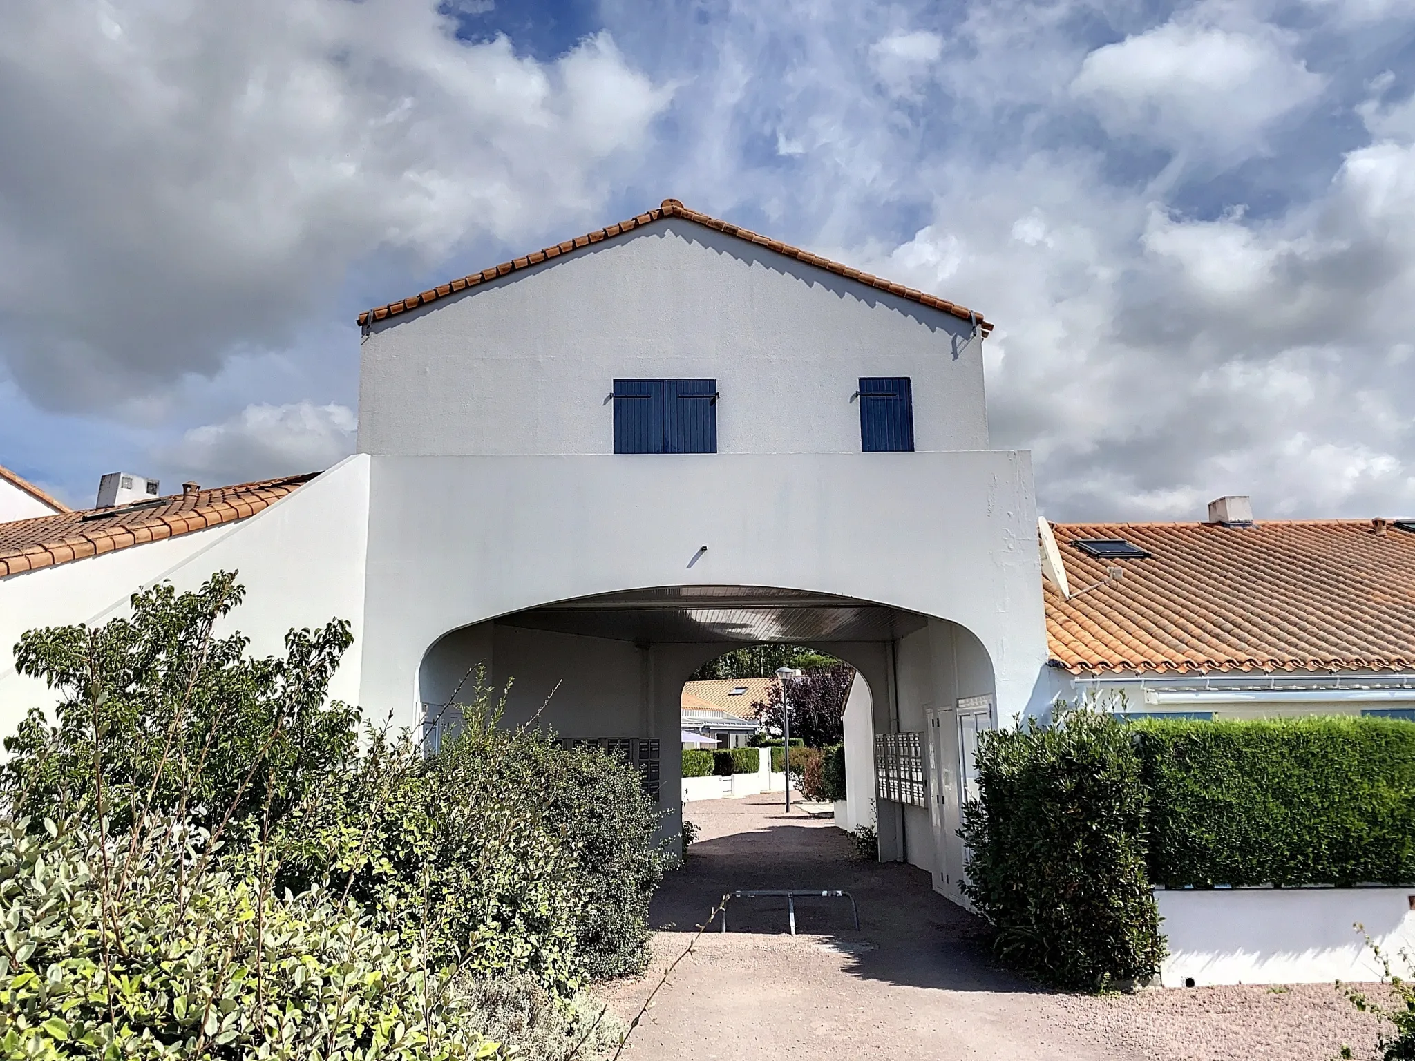
<path fill-rule="evenodd" d="M 989 447 L 979 314 L 669 199 L 361 324 L 357 456 L 11 525 L 0 641 L 238 569 L 256 651 L 352 621 L 333 692 L 371 717 L 436 740 L 485 668 L 511 721 L 621 741 L 672 815 L 685 679 L 743 641 L 818 645 L 869 696 L 850 784 L 873 791 L 877 741 L 883 857 L 959 897 L 959 731 L 1044 706 L 1047 662 L 1032 467 Z M 134 528 L 153 540 L 113 545 Z M 0 671 L 0 726 L 48 697 Z"/>

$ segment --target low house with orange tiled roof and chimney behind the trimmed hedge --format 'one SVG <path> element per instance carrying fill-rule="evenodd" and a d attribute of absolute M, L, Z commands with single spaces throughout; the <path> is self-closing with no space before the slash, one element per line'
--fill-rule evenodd
<path fill-rule="evenodd" d="M 1415 720 L 1415 521 L 1255 521 L 1235 497 L 1206 522 L 1040 529 L 1057 697 Z"/>

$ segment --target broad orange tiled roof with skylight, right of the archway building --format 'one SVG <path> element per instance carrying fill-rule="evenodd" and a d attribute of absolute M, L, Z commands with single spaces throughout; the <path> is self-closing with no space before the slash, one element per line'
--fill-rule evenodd
<path fill-rule="evenodd" d="M 1071 600 L 1044 584 L 1050 655 L 1074 673 L 1415 668 L 1415 533 L 1387 521 L 1051 530 L 1073 594 L 1124 572 Z M 1150 556 L 1092 557 L 1085 539 Z"/>

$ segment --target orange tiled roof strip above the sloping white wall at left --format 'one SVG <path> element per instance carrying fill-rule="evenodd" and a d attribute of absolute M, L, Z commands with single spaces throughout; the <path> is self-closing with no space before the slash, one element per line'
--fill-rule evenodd
<path fill-rule="evenodd" d="M 0 523 L 0 577 L 253 516 L 318 472 Z"/>

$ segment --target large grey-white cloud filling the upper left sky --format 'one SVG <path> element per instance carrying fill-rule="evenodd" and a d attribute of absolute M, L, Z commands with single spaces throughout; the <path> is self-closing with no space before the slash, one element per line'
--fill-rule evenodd
<path fill-rule="evenodd" d="M 17 0 L 0 35 L 0 355 L 106 407 L 330 313 L 369 255 L 583 226 L 669 92 L 608 34 L 549 62 L 434 0 Z M 347 311 L 347 310 L 345 310 Z"/>

